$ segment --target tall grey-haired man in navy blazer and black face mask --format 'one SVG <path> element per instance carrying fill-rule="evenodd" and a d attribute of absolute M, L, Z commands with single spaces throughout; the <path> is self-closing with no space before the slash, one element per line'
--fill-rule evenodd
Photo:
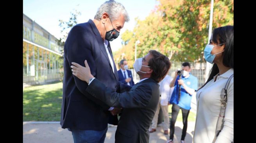
<path fill-rule="evenodd" d="M 125 21 L 129 21 L 129 16 L 124 6 L 109 0 L 98 8 L 94 20 L 75 25 L 68 34 L 64 44 L 60 124 L 72 131 L 75 143 L 103 143 L 111 116 L 109 110 L 112 114 L 117 112 L 116 108 L 112 110 L 106 103 L 88 96 L 88 84 L 72 75 L 71 62 L 84 65 L 87 60 L 91 74 L 112 91 L 118 91 L 120 84 L 109 41 L 118 37 Z M 116 118 L 111 124 L 117 122 Z"/>

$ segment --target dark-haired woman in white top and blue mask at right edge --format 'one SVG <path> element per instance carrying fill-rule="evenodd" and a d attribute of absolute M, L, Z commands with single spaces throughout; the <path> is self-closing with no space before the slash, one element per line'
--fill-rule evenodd
<path fill-rule="evenodd" d="M 234 139 L 234 26 L 213 30 L 210 43 L 204 49 L 204 58 L 213 63 L 209 78 L 197 91 L 197 117 L 193 143 L 231 143 Z M 224 104 L 220 94 L 227 81 L 227 97 Z M 222 113 L 222 105 L 226 109 Z M 223 128 L 217 130 L 220 117 Z M 218 136 L 217 136 L 218 134 Z"/>

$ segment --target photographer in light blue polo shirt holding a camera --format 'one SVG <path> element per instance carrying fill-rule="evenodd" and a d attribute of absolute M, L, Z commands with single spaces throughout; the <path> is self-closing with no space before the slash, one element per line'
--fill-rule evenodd
<path fill-rule="evenodd" d="M 188 127 L 188 114 L 191 109 L 190 103 L 192 95 L 197 91 L 198 80 L 190 72 L 190 64 L 185 62 L 182 64 L 182 70 L 175 72 L 175 78 L 170 83 L 170 87 L 174 87 L 169 104 L 172 104 L 172 119 L 170 124 L 170 140 L 166 143 L 173 143 L 175 122 L 181 109 L 183 119 L 183 129 L 181 135 L 181 143 L 184 143 L 186 131 Z"/>

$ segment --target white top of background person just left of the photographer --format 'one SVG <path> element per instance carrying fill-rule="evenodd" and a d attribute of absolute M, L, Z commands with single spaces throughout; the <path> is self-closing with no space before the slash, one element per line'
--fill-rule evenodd
<path fill-rule="evenodd" d="M 172 92 L 174 87 L 170 87 L 170 83 L 172 81 L 172 77 L 170 75 L 166 75 L 161 82 L 159 82 L 159 90 L 160 90 L 160 104 L 162 106 L 167 106 L 168 102 L 170 101 Z"/>

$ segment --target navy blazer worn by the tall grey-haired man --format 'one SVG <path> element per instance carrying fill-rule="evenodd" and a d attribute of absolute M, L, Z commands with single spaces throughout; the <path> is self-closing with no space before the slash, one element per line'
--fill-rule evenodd
<path fill-rule="evenodd" d="M 111 91 L 118 91 L 118 73 L 114 63 L 113 73 L 100 33 L 90 19 L 87 23 L 75 25 L 69 32 L 64 44 L 63 102 L 61 106 L 61 127 L 82 130 L 102 131 L 106 129 L 110 106 L 90 96 L 86 91 L 88 84 L 72 75 L 72 62 L 84 65 L 87 60 L 91 74 L 97 77 Z M 129 88 L 130 89 L 130 88 Z M 111 115 L 112 116 L 112 115 Z M 117 124 L 115 122 L 111 124 Z"/>

